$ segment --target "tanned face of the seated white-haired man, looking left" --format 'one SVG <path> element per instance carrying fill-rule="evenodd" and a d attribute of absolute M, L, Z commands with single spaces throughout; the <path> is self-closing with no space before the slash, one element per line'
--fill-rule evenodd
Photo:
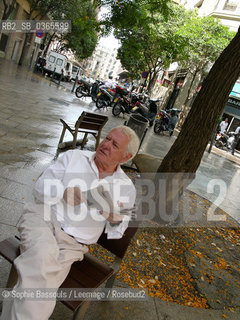
<path fill-rule="evenodd" d="M 96 151 L 96 160 L 102 164 L 117 166 L 126 162 L 131 154 L 126 154 L 129 138 L 118 129 L 112 130 Z"/>

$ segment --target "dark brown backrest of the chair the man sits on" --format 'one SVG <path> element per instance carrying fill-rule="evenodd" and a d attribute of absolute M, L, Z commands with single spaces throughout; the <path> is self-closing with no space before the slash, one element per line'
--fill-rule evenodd
<path fill-rule="evenodd" d="M 136 221 L 130 221 L 121 239 L 107 239 L 107 234 L 103 232 L 97 243 L 122 259 L 137 229 Z"/>

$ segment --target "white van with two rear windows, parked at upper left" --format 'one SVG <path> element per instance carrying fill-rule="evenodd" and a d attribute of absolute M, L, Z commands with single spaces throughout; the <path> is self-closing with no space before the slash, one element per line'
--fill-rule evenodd
<path fill-rule="evenodd" d="M 63 79 L 65 80 L 67 77 L 67 73 L 66 73 L 67 62 L 68 62 L 67 57 L 64 54 L 61 54 L 55 51 L 50 51 L 47 56 L 46 64 L 43 68 L 44 73 L 51 75 L 55 70 L 55 75 L 60 77 L 61 74 L 63 74 Z M 68 68 L 71 69 L 71 66 L 68 65 Z"/>

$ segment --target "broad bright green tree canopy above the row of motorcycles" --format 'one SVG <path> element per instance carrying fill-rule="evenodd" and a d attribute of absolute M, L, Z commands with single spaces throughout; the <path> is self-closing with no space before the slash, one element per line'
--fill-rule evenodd
<path fill-rule="evenodd" d="M 172 1 L 102 1 L 111 6 L 107 27 L 121 41 L 118 57 L 132 77 L 149 71 L 151 81 L 161 69 L 179 61 L 189 71 L 204 72 L 234 33 L 213 17 L 199 17 Z"/>

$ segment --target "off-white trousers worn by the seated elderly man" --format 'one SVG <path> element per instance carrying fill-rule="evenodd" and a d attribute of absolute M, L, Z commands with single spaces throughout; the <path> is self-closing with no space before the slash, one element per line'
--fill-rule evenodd
<path fill-rule="evenodd" d="M 55 214 L 45 221 L 43 205 L 27 204 L 19 222 L 21 255 L 14 261 L 18 281 L 14 289 L 58 289 L 74 261 L 82 260 L 87 246 L 61 230 Z M 54 300 L 3 301 L 1 320 L 47 320 Z"/>

